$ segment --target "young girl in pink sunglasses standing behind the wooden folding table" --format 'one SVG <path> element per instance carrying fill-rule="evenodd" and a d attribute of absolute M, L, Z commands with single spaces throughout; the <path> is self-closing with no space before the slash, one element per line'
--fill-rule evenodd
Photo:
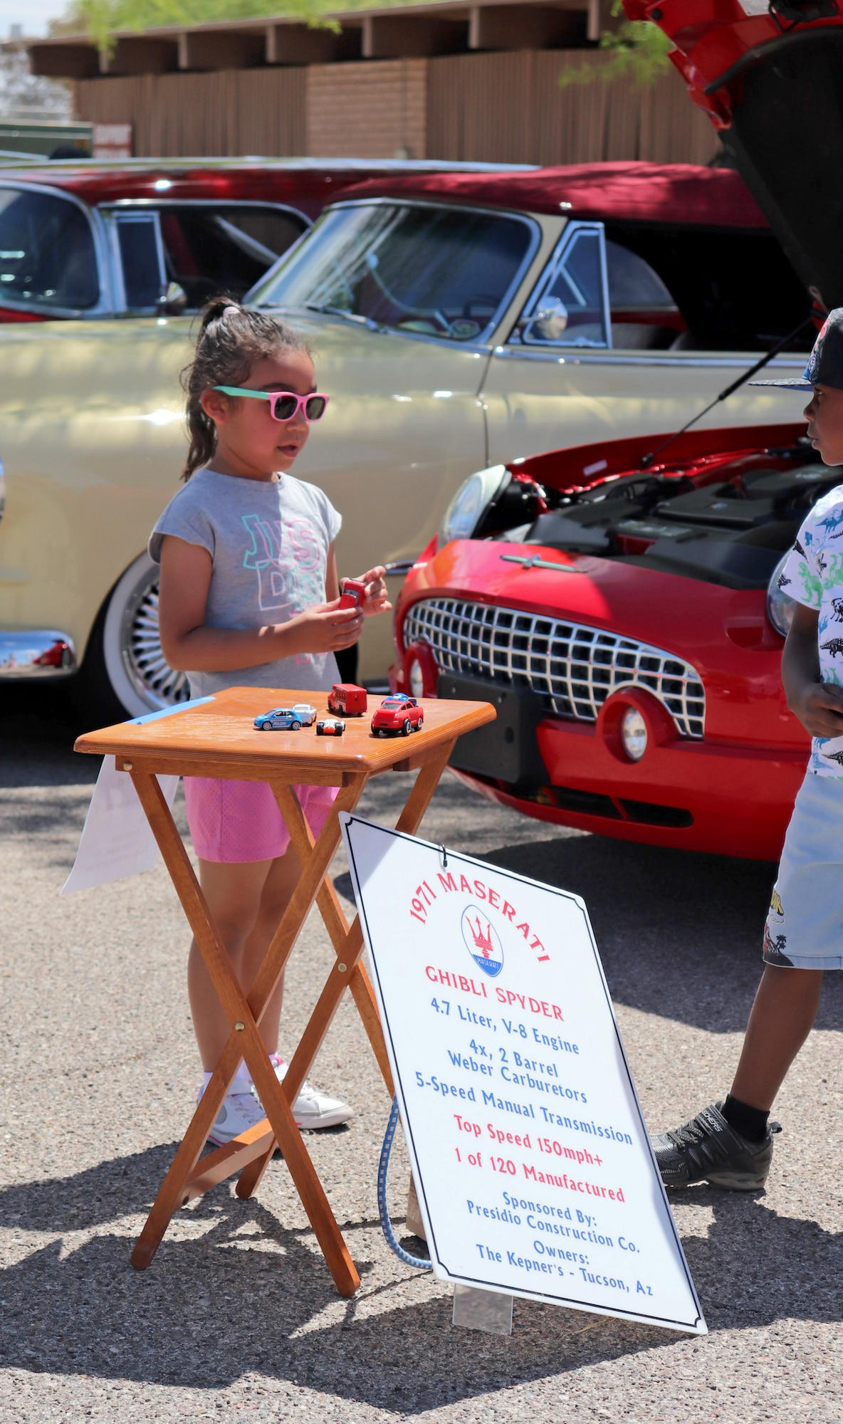
<path fill-rule="evenodd" d="M 339 676 L 335 652 L 357 641 L 365 617 L 390 604 L 383 568 L 370 568 L 360 575 L 365 604 L 339 607 L 333 543 L 340 515 L 322 490 L 288 474 L 310 422 L 328 404 L 316 392 L 308 347 L 283 323 L 221 298 L 202 313 L 184 384 L 187 483 L 150 538 L 150 554 L 161 564 L 164 656 L 188 674 L 192 696 L 244 685 L 325 691 Z M 185 778 L 184 786 L 199 881 L 232 968 L 248 988 L 290 899 L 299 862 L 265 783 Z M 319 834 L 336 789 L 296 792 Z M 201 1096 L 229 1024 L 195 940 L 188 993 L 205 1069 Z M 262 1025 L 278 1078 L 286 1072 L 278 1054 L 282 995 L 283 983 Z M 328 1128 L 347 1122 L 352 1109 L 305 1082 L 293 1115 L 300 1128 Z M 222 1145 L 262 1116 L 241 1062 L 209 1138 Z"/>

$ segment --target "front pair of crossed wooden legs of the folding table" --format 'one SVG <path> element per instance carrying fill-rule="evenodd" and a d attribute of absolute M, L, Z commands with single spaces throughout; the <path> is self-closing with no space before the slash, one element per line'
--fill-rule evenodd
<path fill-rule="evenodd" d="M 135 1250 L 132 1252 L 132 1265 L 142 1267 L 150 1263 L 174 1210 L 184 1200 L 184 1189 L 189 1173 L 197 1165 L 211 1124 L 219 1111 L 225 1092 L 231 1087 L 242 1052 L 252 1071 L 261 1102 L 269 1118 L 273 1135 L 285 1153 L 290 1176 L 308 1212 L 337 1290 L 340 1294 L 353 1294 L 359 1286 L 357 1272 L 295 1125 L 288 1094 L 281 1091 L 281 1085 L 272 1071 L 258 1024 L 283 971 L 300 926 L 313 904 L 325 871 L 330 864 L 339 842 L 339 810 L 353 809 L 366 778 L 353 778 L 352 783 L 339 793 L 332 815 L 319 837 L 319 846 L 315 847 L 308 866 L 302 869 L 302 876 L 293 891 L 290 904 L 273 936 L 248 998 L 234 978 L 225 947 L 216 934 L 208 906 L 172 822 L 172 816 L 164 802 L 158 782 L 155 778 L 140 772 L 132 773 L 132 780 L 135 782 L 141 805 L 147 812 L 152 833 L 194 930 L 216 993 L 235 1030 L 197 1106 L 197 1112 L 185 1134 L 185 1141 L 177 1152 L 152 1212 L 138 1237 Z"/>

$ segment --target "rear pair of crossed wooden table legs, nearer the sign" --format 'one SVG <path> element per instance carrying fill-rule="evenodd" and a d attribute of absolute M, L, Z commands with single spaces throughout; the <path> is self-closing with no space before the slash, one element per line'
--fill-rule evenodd
<path fill-rule="evenodd" d="M 449 758 L 454 749 L 454 743 L 449 742 L 440 746 L 436 755 L 427 762 L 419 772 L 413 790 L 410 792 L 407 802 L 399 820 L 396 823 L 396 830 L 403 830 L 407 834 L 414 834 L 419 829 L 424 812 L 427 810 L 433 793 L 439 785 L 439 779 L 447 766 Z M 302 864 L 309 863 L 316 847 L 320 844 L 322 836 L 318 842 L 313 840 L 313 833 L 306 822 L 302 807 L 288 786 L 275 785 L 273 792 L 281 807 L 281 813 L 286 822 L 288 830 L 296 854 Z M 325 832 L 322 832 L 325 834 Z M 355 988 L 355 1002 L 359 1000 L 357 994 L 366 995 L 363 1000 L 367 1007 L 367 1012 L 362 1012 L 363 1027 L 372 1042 L 375 1057 L 382 1067 L 387 1089 L 392 1094 L 392 1074 L 389 1071 L 389 1059 L 386 1054 L 386 1044 L 383 1041 L 383 1030 L 380 1027 L 380 1020 L 377 1017 L 377 1008 L 375 1004 L 375 997 L 372 993 L 372 985 L 369 983 L 369 975 L 363 965 L 357 964 L 360 954 L 363 953 L 363 933 L 360 930 L 360 917 L 356 916 L 353 924 L 349 927 L 347 920 L 343 914 L 342 906 L 337 900 L 333 884 L 329 877 L 325 877 L 319 894 L 316 897 L 319 910 L 325 920 L 325 926 L 330 936 L 336 963 L 328 977 L 328 983 L 319 995 L 316 1007 L 308 1021 L 308 1027 L 299 1040 L 299 1045 L 290 1059 L 289 1068 L 286 1071 L 283 1087 L 288 1092 L 289 1101 L 295 1102 L 305 1078 L 308 1077 L 313 1059 L 322 1047 L 325 1035 L 330 1028 L 333 1017 L 339 1008 L 342 995 L 346 987 Z M 342 965 L 342 968 L 340 968 Z M 353 985 L 353 975 L 359 974 L 357 984 Z M 370 1005 L 370 1008 L 369 1008 Z M 384 1071 L 386 1069 L 386 1071 Z M 275 1143 L 265 1152 L 265 1155 L 256 1156 L 241 1173 L 236 1193 L 238 1196 L 251 1196 L 261 1182 L 263 1172 L 266 1171 L 269 1162 L 272 1161 L 272 1153 L 275 1151 Z"/>

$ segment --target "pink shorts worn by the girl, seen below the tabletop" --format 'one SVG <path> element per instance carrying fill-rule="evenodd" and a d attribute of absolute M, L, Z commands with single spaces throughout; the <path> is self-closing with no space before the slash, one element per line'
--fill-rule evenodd
<path fill-rule="evenodd" d="M 266 782 L 225 782 L 185 776 L 185 802 L 199 860 L 226 864 L 275 860 L 290 842 L 278 802 Z M 293 786 L 315 836 L 333 805 L 337 786 Z"/>

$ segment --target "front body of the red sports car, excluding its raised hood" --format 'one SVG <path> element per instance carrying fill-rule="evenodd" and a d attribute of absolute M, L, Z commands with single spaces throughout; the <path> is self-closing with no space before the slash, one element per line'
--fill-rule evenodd
<path fill-rule="evenodd" d="M 451 758 L 494 800 L 775 859 L 807 755 L 779 565 L 843 470 L 803 426 L 689 433 L 642 470 L 658 443 L 473 476 L 399 597 L 393 686 L 494 702 Z"/>

